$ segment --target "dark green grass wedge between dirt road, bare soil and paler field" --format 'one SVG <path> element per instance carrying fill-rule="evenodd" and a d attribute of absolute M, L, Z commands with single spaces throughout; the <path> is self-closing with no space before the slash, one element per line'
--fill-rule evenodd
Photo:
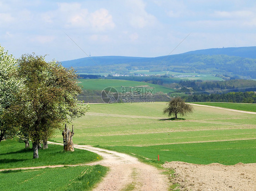
<path fill-rule="evenodd" d="M 165 161 L 182 161 L 197 164 L 218 162 L 234 165 L 238 162 L 256 162 L 256 139 L 224 142 L 202 142 L 146 147 L 104 147 L 118 152 L 133 153 L 143 162 L 164 164 Z M 158 161 L 159 155 L 159 161 Z M 148 159 L 145 159 L 148 158 Z"/>

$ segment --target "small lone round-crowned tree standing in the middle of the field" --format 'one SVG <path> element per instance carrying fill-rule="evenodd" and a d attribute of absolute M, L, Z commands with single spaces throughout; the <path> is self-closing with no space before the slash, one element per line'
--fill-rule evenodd
<path fill-rule="evenodd" d="M 177 119 L 178 114 L 184 116 L 193 112 L 193 107 L 185 103 L 180 97 L 172 98 L 167 105 L 167 108 L 164 108 L 164 114 L 167 113 L 169 117 L 174 116 L 175 119 Z"/>

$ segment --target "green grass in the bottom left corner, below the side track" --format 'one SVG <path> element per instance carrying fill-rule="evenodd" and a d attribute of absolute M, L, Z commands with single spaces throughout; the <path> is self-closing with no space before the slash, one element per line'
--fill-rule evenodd
<path fill-rule="evenodd" d="M 1 171 L 1 191 L 91 190 L 108 168 L 100 165 Z"/>

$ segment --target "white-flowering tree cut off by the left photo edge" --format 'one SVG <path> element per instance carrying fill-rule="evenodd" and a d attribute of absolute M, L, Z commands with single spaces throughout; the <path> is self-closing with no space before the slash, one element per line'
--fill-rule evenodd
<path fill-rule="evenodd" d="M 15 94 L 22 88 L 21 80 L 16 78 L 17 60 L 0 46 L 0 142 L 17 132 L 15 120 Z"/>

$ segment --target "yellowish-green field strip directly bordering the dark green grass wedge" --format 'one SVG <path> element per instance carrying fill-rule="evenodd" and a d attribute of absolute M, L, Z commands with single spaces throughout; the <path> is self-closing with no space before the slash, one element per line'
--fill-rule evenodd
<path fill-rule="evenodd" d="M 204 142 L 215 140 L 255 139 L 255 129 L 224 129 L 204 131 L 157 132 L 124 135 L 87 135 L 80 134 L 74 142 L 102 146 L 147 146 L 185 142 Z"/>

